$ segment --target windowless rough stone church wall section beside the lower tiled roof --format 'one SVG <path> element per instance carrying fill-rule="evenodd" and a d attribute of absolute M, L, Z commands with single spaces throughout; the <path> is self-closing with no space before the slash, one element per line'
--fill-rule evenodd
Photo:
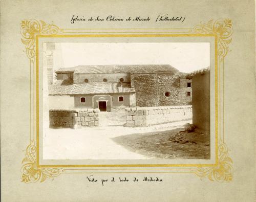
<path fill-rule="evenodd" d="M 156 74 L 131 75 L 136 91 L 136 106 L 158 106 Z"/>

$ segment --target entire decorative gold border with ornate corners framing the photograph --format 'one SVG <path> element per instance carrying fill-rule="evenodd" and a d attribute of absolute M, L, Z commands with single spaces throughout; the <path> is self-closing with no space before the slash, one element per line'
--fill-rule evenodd
<path fill-rule="evenodd" d="M 21 25 L 22 42 L 25 44 L 27 57 L 30 59 L 30 68 L 36 67 L 36 143 L 34 141 L 35 132 L 31 132 L 30 145 L 26 150 L 26 157 L 22 164 L 22 182 L 34 183 L 44 182 L 46 178 L 53 178 L 60 173 L 78 173 L 68 172 L 70 170 L 84 170 L 79 167 L 85 165 L 39 165 L 39 90 L 38 90 L 38 38 L 39 37 L 176 37 L 176 36 L 212 36 L 215 37 L 215 91 L 216 91 L 216 164 L 173 164 L 173 165 L 86 165 L 87 167 L 182 167 L 181 169 L 169 168 L 172 172 L 168 173 L 195 173 L 200 177 L 208 176 L 211 181 L 229 182 L 233 178 L 232 161 L 228 157 L 227 146 L 223 137 L 218 138 L 218 66 L 224 68 L 224 57 L 229 51 L 228 44 L 231 42 L 232 23 L 230 19 L 210 20 L 207 24 L 195 26 L 193 29 L 115 29 L 117 32 L 109 32 L 108 29 L 101 29 L 101 32 L 88 32 L 87 29 L 60 29 L 52 24 L 46 24 L 44 21 L 35 19 L 23 20 Z M 95 30 L 95 29 L 92 29 Z M 130 31 L 131 30 L 131 31 Z M 138 31 L 137 31 L 138 30 Z M 157 31 L 156 31 L 157 30 Z M 159 32 L 161 30 L 161 32 Z M 168 30 L 168 31 L 164 31 Z M 64 34 L 65 33 L 65 34 Z M 68 34 L 72 33 L 72 34 Z M 76 33 L 76 34 L 73 34 Z M 77 34 L 77 33 L 126 33 L 126 34 Z M 130 34 L 129 34 L 130 33 Z M 137 34 L 131 34 L 137 33 Z M 147 33 L 147 34 L 145 34 Z M 165 34 L 148 34 L 165 33 Z M 172 34 L 166 34 L 172 33 Z M 175 34 L 173 34 L 175 33 Z M 180 34 L 182 33 L 182 34 Z M 185 33 L 185 34 L 184 34 Z M 31 87 L 30 87 L 31 89 Z M 34 91 L 33 91 L 34 92 Z M 31 104 L 32 106 L 32 104 Z M 34 106 L 34 105 L 33 105 Z M 224 106 L 224 105 L 223 105 Z M 223 121 L 224 123 L 224 121 Z M 224 127 L 223 127 L 224 128 Z M 219 146 L 218 146 L 219 145 Z M 61 168 L 57 168 L 61 167 Z M 63 167 L 76 167 L 78 169 L 63 169 Z M 184 168 L 196 167 L 196 168 Z M 120 168 L 121 169 L 121 168 Z M 118 169 L 118 170 L 120 170 Z M 135 168 L 138 170 L 137 168 Z M 161 168 L 159 168 L 161 169 Z M 102 170 L 102 169 L 101 169 Z M 144 170 L 144 168 L 143 168 Z M 84 172 L 82 172 L 84 173 Z M 144 172 L 143 172 L 144 173 Z M 152 172 L 151 172 L 152 173 Z"/>

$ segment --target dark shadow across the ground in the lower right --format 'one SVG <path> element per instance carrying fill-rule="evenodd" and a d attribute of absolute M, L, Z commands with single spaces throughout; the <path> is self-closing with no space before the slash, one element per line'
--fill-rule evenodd
<path fill-rule="evenodd" d="M 210 159 L 210 135 L 195 130 L 127 134 L 112 138 L 120 146 L 152 159 Z"/>

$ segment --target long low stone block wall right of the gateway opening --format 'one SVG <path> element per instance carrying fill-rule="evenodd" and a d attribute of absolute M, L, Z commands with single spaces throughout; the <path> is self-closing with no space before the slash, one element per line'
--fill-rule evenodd
<path fill-rule="evenodd" d="M 192 119 L 192 106 L 126 107 L 125 126 L 149 126 Z"/>

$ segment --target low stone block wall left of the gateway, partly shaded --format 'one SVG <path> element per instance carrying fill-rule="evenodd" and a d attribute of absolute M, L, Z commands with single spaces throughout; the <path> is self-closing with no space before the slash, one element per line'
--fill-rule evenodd
<path fill-rule="evenodd" d="M 99 109 L 50 109 L 50 127 L 81 128 L 99 125 Z"/>

